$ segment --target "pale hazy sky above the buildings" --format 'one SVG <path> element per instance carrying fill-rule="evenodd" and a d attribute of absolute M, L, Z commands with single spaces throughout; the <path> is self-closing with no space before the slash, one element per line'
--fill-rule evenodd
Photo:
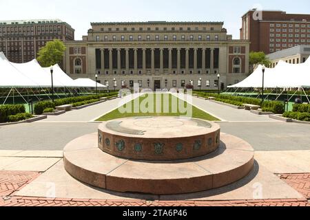
<path fill-rule="evenodd" d="M 81 40 L 91 22 L 116 21 L 224 21 L 239 39 L 241 17 L 252 8 L 310 14 L 309 0 L 0 0 L 0 21 L 61 19 Z"/>

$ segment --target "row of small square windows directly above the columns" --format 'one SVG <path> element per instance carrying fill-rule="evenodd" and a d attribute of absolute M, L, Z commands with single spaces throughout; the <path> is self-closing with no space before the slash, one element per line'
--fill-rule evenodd
<path fill-rule="evenodd" d="M 109 39 L 109 36 L 104 36 L 104 39 L 103 39 L 103 41 L 118 41 L 118 40 L 119 39 L 117 39 L 116 35 L 112 36 L 112 39 Z M 161 40 L 163 40 L 163 41 L 170 41 L 170 40 L 177 41 L 178 39 L 177 39 L 176 35 L 172 36 L 172 39 L 169 39 L 168 35 L 163 36 L 163 39 L 161 39 L 161 37 L 159 35 L 155 35 L 154 39 L 152 39 L 150 35 L 145 36 L 144 39 L 143 39 L 143 36 L 141 36 L 141 35 L 138 35 L 137 39 L 134 39 L 133 35 L 130 35 L 128 39 L 126 39 L 125 35 L 122 35 L 121 39 L 120 39 L 120 41 L 136 41 L 136 40 L 137 41 L 143 41 L 143 40 L 144 41 L 152 41 L 152 40 L 154 40 L 154 41 L 161 41 Z M 185 41 L 186 36 L 185 35 L 180 36 L 180 40 Z M 207 35 L 205 37 L 203 37 L 202 35 L 198 35 L 197 39 L 195 39 L 194 35 L 189 35 L 188 40 L 189 41 L 196 41 L 196 40 L 197 41 L 211 41 L 211 40 L 218 41 L 219 38 L 218 38 L 218 35 L 215 35 L 214 39 L 211 39 L 210 35 Z M 100 36 L 96 36 L 95 41 L 101 41 Z"/>

